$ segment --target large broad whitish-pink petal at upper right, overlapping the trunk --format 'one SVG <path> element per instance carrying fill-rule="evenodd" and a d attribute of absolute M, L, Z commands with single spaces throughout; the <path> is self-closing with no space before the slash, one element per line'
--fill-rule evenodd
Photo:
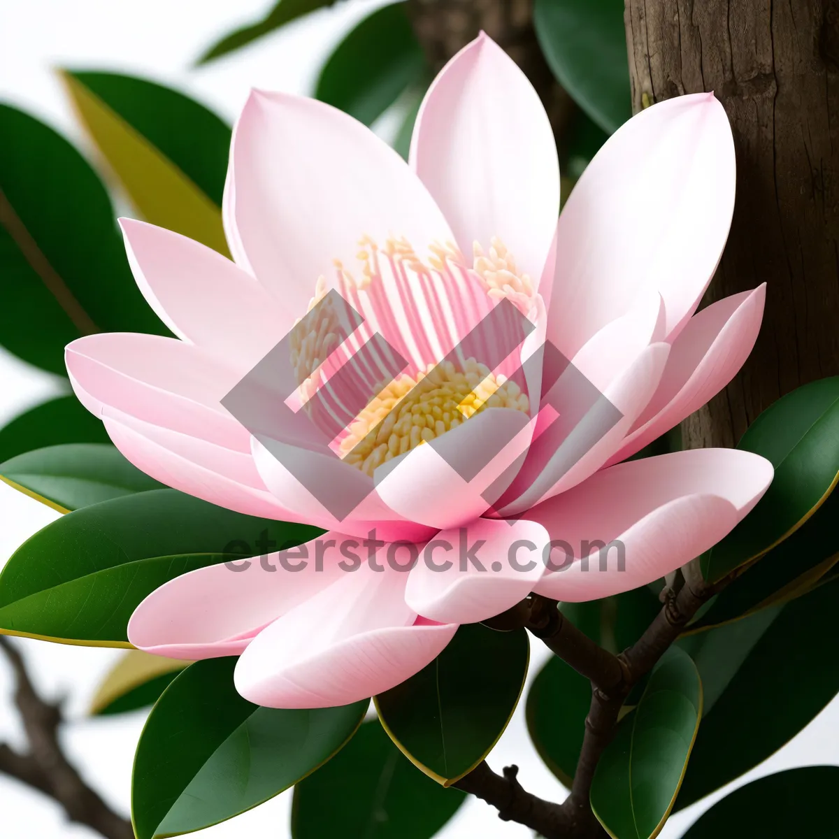
<path fill-rule="evenodd" d="M 618 128 L 560 216 L 549 338 L 571 357 L 654 290 L 675 336 L 717 268 L 734 185 L 731 127 L 711 94 L 659 102 Z"/>

